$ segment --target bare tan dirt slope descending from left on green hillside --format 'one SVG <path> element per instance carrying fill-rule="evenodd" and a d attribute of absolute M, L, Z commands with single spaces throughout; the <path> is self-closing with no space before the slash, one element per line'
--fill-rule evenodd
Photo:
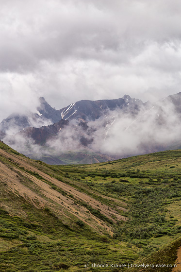
<path fill-rule="evenodd" d="M 1 181 L 6 182 L 8 189 L 10 189 L 14 194 L 23 197 L 26 202 L 33 204 L 35 207 L 42 208 L 49 206 L 59 216 L 64 215 L 68 218 L 70 218 L 72 215 L 76 216 L 78 219 L 84 221 L 95 230 L 101 231 L 101 229 L 104 229 L 109 233 L 112 233 L 112 228 L 107 222 L 102 221 L 96 216 L 92 215 L 86 207 L 75 204 L 74 199 L 83 201 L 94 209 L 98 209 L 99 207 L 100 213 L 112 221 L 126 220 L 125 217 L 119 215 L 112 207 L 109 207 L 106 204 L 101 204 L 98 200 L 92 198 L 91 196 L 80 192 L 64 182 L 58 181 L 43 171 L 33 167 L 29 164 L 30 160 L 28 158 L 7 153 L 1 149 L 0 155 L 2 157 L 4 156 L 6 159 L 9 159 L 10 162 L 15 163 L 13 168 L 6 166 L 4 163 L 0 163 Z M 19 167 L 23 167 L 24 169 L 20 169 Z M 35 177 L 33 174 L 26 172 L 26 170 L 37 173 L 42 177 L 42 180 Z M 66 192 L 66 196 L 59 191 L 52 189 L 50 184 L 53 184 L 57 188 L 60 188 L 62 191 Z M 68 194 L 71 194 L 73 199 Z M 118 200 L 116 202 L 119 203 Z M 119 206 L 116 208 L 120 210 L 124 209 Z"/>

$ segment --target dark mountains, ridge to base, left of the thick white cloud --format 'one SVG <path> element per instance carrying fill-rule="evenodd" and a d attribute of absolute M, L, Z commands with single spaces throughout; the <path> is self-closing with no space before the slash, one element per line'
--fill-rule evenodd
<path fill-rule="evenodd" d="M 110 114 L 117 111 L 135 116 L 141 107 L 147 108 L 148 103 L 126 95 L 114 100 L 79 101 L 60 110 L 53 109 L 44 98 L 40 98 L 37 114 L 12 115 L 1 122 L 1 139 L 32 158 L 37 157 L 53 164 L 109 161 L 115 156 L 91 148 L 98 129 L 97 125 L 89 126 L 89 123 L 102 119 L 100 127 L 109 131 L 113 122 Z M 41 126 L 43 122 L 53 124 Z M 57 148 L 54 142 L 62 149 Z M 40 151 L 37 145 L 43 146 L 43 149 Z"/>

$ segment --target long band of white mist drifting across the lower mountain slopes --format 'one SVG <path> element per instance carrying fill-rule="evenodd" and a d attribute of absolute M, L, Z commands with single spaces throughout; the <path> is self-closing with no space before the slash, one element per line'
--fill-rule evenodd
<path fill-rule="evenodd" d="M 69 124 L 43 145 L 38 145 L 26 134 L 6 136 L 3 141 L 20 153 L 41 159 L 62 153 L 86 151 L 124 158 L 132 155 L 164 151 L 180 145 L 181 114 L 173 102 L 162 99 L 138 112 L 106 111 L 99 119 L 87 123 L 87 129 Z"/>

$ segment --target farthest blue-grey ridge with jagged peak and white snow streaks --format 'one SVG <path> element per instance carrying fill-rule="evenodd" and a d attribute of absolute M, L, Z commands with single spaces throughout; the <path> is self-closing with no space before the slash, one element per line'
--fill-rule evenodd
<path fill-rule="evenodd" d="M 46 123 L 57 123 L 61 119 L 76 119 L 78 121 L 94 121 L 105 114 L 108 110 L 116 108 L 124 111 L 131 110 L 132 113 L 138 110 L 138 107 L 145 105 L 141 100 L 131 99 L 130 96 L 113 100 L 89 101 L 82 100 L 72 103 L 60 110 L 52 108 L 43 97 L 39 99 L 40 106 L 37 107 L 36 113 L 27 113 L 24 115 L 12 114 L 8 118 L 3 119 L 0 123 L 0 130 L 3 133 L 15 134 L 26 127 L 41 127 Z"/>

